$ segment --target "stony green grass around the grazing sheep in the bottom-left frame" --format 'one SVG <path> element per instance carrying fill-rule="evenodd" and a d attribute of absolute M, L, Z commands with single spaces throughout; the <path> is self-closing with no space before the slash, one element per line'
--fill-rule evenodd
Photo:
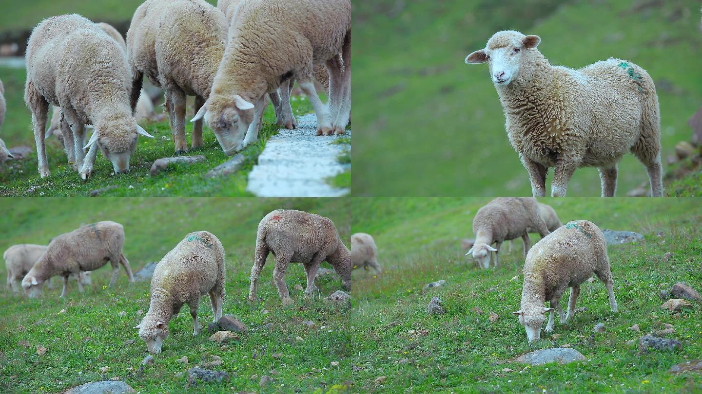
<path fill-rule="evenodd" d="M 211 231 L 226 251 L 227 295 L 223 311 L 237 316 L 251 330 L 237 344 L 220 348 L 207 340 L 205 332 L 192 337 L 192 319 L 186 307 L 171 320 L 171 333 L 164 342 L 164 351 L 155 357 L 155 365 L 140 369 L 141 360 L 147 355 L 146 346 L 132 327 L 141 320 L 137 311 L 148 310 L 149 283 L 130 284 L 122 270 L 117 287 L 107 289 L 111 270 L 103 267 L 93 272 L 93 285 L 84 294 L 72 282 L 67 299 L 58 298 L 60 278 L 54 279 L 53 290 L 42 289 L 39 299 L 3 291 L 0 391 L 4 393 L 56 393 L 113 376 L 119 376 L 141 393 L 179 392 L 185 376 L 176 374 L 211 360 L 210 355 L 223 359 L 219 369 L 228 372 L 231 381 L 201 384 L 192 389 L 194 392 L 230 393 L 232 388 L 255 391 L 259 389 L 258 379 L 251 379 L 253 374 L 268 374 L 276 379 L 262 392 L 311 392 L 350 379 L 350 369 L 343 362 L 355 355 L 349 347 L 352 330 L 347 313 L 335 312 L 322 301 L 304 301 L 302 292 L 293 290 L 293 285 L 305 285 L 300 264 L 291 264 L 286 277 L 296 307 L 280 307 L 271 283 L 272 257 L 260 280 L 259 294 L 264 301 L 253 306 L 245 301 L 260 219 L 276 208 L 319 213 L 335 222 L 347 243 L 350 224 L 344 198 L 119 198 L 109 204 L 83 198 L 6 198 L 0 206 L 6 215 L 6 225 L 0 229 L 0 250 L 16 243 L 47 243 L 56 234 L 80 224 L 112 219 L 124 225 L 124 254 L 133 271 L 148 261 L 160 260 L 185 234 Z M 326 263 L 323 266 L 329 267 Z M 4 265 L 0 270 L 4 278 Z M 326 277 L 317 285 L 326 297 L 340 288 L 340 281 Z M 126 315 L 119 315 L 121 311 Z M 199 318 L 204 327 L 211 321 L 207 297 L 201 302 Z M 314 320 L 317 328 L 305 328 L 303 320 Z M 261 328 L 269 322 L 271 328 Z M 125 345 L 133 339 L 137 340 L 135 344 Z M 27 348 L 21 346 L 22 341 L 27 342 Z M 46 354 L 35 353 L 39 345 L 48 349 Z M 272 358 L 273 353 L 282 353 L 283 357 Z M 190 359 L 190 365 L 175 361 L 183 355 Z M 332 361 L 342 363 L 331 367 Z M 111 370 L 103 374 L 100 367 L 105 366 Z M 272 369 L 277 369 L 277 374 L 271 373 Z"/>

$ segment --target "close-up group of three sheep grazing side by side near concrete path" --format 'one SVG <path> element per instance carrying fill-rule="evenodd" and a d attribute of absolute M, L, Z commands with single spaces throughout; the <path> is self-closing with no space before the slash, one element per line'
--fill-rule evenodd
<path fill-rule="evenodd" d="M 290 106 L 296 81 L 317 114 L 317 135 L 343 134 L 351 109 L 350 45 L 350 0 L 219 0 L 217 7 L 146 0 L 126 42 L 112 26 L 81 15 L 47 18 L 32 30 L 26 53 L 25 102 L 39 175 L 50 175 L 44 140 L 53 134 L 81 179 L 91 176 L 98 149 L 115 173 L 128 172 L 138 135 L 152 137 L 137 123 L 153 112 L 141 98 L 145 75 L 165 92 L 176 153 L 188 149 L 187 95 L 195 97 L 191 147 L 203 145 L 204 121 L 231 156 L 258 140 L 267 97 L 277 123 L 296 128 Z M 315 78 L 329 90 L 326 105 Z M 88 125 L 94 131 L 86 142 Z"/>

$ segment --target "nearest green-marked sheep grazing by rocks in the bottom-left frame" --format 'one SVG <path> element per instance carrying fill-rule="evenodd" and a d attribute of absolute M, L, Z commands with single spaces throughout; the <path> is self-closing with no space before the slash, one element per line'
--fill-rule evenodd
<path fill-rule="evenodd" d="M 222 317 L 225 292 L 224 247 L 213 233 L 189 233 L 164 256 L 151 279 L 151 303 L 143 320 L 134 327 L 149 353 L 161 353 L 168 337 L 168 322 L 183 304 L 190 307 L 193 336 L 200 334 L 197 307 L 209 294 L 213 322 Z"/>

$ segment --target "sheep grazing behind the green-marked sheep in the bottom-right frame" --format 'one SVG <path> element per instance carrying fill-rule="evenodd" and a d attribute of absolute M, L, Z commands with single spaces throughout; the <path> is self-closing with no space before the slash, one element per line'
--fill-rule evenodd
<path fill-rule="evenodd" d="M 466 255 L 472 253 L 482 268 L 489 269 L 492 252 L 497 266 L 502 243 L 519 237 L 524 240 L 526 255 L 531 243 L 528 229 L 536 229 L 542 237 L 550 233 L 536 204 L 536 198 L 498 197 L 480 208 L 473 218 L 475 243 Z"/>

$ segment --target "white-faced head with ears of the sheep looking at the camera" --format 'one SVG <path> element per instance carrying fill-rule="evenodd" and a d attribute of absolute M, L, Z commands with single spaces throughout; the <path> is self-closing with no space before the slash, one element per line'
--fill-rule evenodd
<path fill-rule="evenodd" d="M 519 76 L 524 53 L 536 48 L 538 36 L 524 36 L 519 32 L 497 32 L 484 49 L 476 50 L 465 58 L 468 64 L 488 62 L 490 78 L 495 86 L 508 86 Z"/>

